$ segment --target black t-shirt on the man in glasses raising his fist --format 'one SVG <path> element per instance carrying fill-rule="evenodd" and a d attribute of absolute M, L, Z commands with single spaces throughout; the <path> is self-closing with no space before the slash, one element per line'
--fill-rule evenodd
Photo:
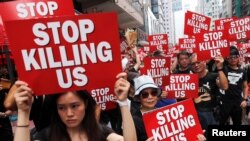
<path fill-rule="evenodd" d="M 216 91 L 218 91 L 218 87 L 216 84 L 216 79 L 218 77 L 217 73 L 211 73 L 208 72 L 206 76 L 199 79 L 199 92 L 198 95 L 204 95 L 205 93 L 208 93 L 208 97 L 211 98 L 211 100 L 208 101 L 201 101 L 200 103 L 196 104 L 196 108 L 198 111 L 212 111 L 213 108 L 216 106 Z"/>

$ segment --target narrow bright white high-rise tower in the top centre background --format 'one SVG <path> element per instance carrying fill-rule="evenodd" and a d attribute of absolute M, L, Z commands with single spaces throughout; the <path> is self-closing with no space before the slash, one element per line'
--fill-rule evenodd
<path fill-rule="evenodd" d="M 164 27 L 166 29 L 166 33 L 168 34 L 168 42 L 170 44 L 175 44 L 175 31 L 174 31 L 174 13 L 173 13 L 173 5 L 177 6 L 177 8 L 175 9 L 177 10 L 181 10 L 182 6 L 178 5 L 181 3 L 177 3 L 177 4 L 173 4 L 172 0 L 164 0 L 164 2 L 162 3 L 163 6 L 163 15 L 164 15 Z"/>

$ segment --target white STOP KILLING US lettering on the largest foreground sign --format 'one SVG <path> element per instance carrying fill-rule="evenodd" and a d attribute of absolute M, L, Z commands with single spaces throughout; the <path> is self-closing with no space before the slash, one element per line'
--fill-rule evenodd
<path fill-rule="evenodd" d="M 88 41 L 88 34 L 94 31 L 94 23 L 89 19 L 74 21 L 48 22 L 47 24 L 36 23 L 33 25 L 33 34 L 37 37 L 34 42 L 38 46 L 46 46 L 48 43 L 61 44 L 60 39 L 68 43 L 75 43 L 72 46 L 59 45 L 58 48 L 46 46 L 41 48 L 21 50 L 26 71 L 43 70 L 55 68 L 58 84 L 61 88 L 70 88 L 73 84 L 84 86 L 88 83 L 88 78 L 84 74 L 86 69 L 83 65 L 97 62 L 110 62 L 113 60 L 111 45 L 107 41 L 99 43 L 81 43 Z M 68 30 L 72 31 L 70 35 Z M 49 31 L 52 33 L 50 39 Z M 59 38 L 59 35 L 61 38 Z M 55 60 L 54 50 L 59 50 L 59 59 Z M 71 50 L 71 51 L 69 51 Z M 69 59 L 69 52 L 73 58 Z M 77 66 L 78 65 L 78 66 Z M 81 65 L 81 66 L 79 66 Z M 65 68 L 72 67 L 75 68 Z M 65 74 L 65 75 L 63 75 Z"/>

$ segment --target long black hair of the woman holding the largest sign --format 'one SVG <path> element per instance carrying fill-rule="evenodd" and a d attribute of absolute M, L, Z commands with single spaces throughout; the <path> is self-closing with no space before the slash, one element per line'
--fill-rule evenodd
<path fill-rule="evenodd" d="M 88 137 L 88 141 L 101 140 L 101 128 L 98 125 L 95 114 L 96 102 L 86 90 L 72 91 L 85 104 L 85 116 L 81 122 L 80 131 L 84 131 Z M 65 93 L 55 94 L 53 96 L 52 119 L 50 130 L 48 133 L 49 141 L 71 141 L 67 132 L 66 125 L 62 122 L 57 111 L 57 100 Z"/>

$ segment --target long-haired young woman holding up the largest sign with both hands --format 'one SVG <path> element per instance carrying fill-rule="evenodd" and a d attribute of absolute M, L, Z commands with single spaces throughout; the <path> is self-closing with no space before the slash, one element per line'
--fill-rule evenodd
<path fill-rule="evenodd" d="M 127 95 L 129 82 L 126 74 L 117 75 L 115 94 L 121 108 L 123 137 L 107 127 L 100 126 L 95 117 L 95 104 L 87 91 L 68 91 L 54 96 L 52 122 L 49 128 L 41 131 L 36 140 L 44 141 L 136 141 L 134 123 L 128 109 Z M 17 129 L 14 141 L 29 141 L 29 114 L 32 105 L 32 89 L 28 84 L 17 81 L 15 100 L 18 107 Z"/>

